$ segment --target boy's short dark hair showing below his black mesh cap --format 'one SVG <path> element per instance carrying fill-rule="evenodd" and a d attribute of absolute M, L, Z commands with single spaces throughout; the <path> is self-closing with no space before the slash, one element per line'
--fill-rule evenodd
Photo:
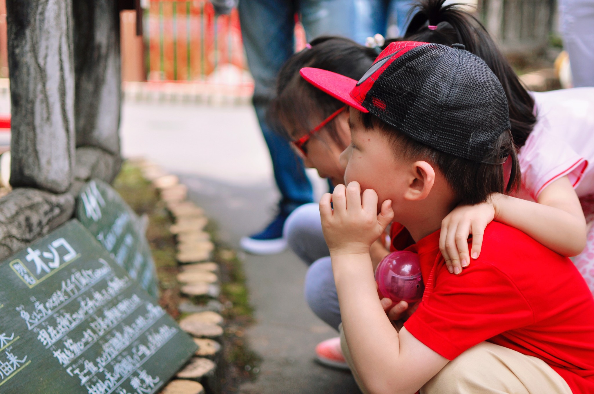
<path fill-rule="evenodd" d="M 438 151 L 399 132 L 371 113 L 361 115 L 365 129 L 375 129 L 386 135 L 397 160 L 423 160 L 437 167 L 454 192 L 458 204 L 480 204 L 487 201 L 492 193 L 510 193 L 520 185 L 520 164 L 509 130 L 499 136 L 494 149 L 495 152 L 503 152 L 508 156 L 510 174 L 505 185 L 504 170 L 507 166 L 504 167 L 503 164 L 476 163 Z"/>

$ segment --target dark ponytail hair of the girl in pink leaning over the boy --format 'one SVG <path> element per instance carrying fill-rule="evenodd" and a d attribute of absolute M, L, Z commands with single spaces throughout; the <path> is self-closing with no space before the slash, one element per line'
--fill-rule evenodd
<path fill-rule="evenodd" d="M 416 12 L 406 29 L 406 41 L 452 45 L 460 43 L 483 59 L 497 76 L 510 108 L 511 135 L 521 148 L 536 123 L 534 99 L 520 83 L 510 63 L 498 49 L 485 27 L 459 4 L 443 5 L 445 0 L 418 0 Z M 430 30 L 428 26 L 437 26 Z"/>

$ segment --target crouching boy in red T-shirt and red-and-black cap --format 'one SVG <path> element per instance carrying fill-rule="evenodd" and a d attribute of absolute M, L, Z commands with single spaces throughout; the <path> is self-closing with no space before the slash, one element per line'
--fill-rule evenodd
<path fill-rule="evenodd" d="M 519 182 L 507 100 L 488 66 L 462 45 L 399 42 L 359 82 L 301 74 L 350 106 L 348 186 L 324 195 L 320 213 L 343 350 L 361 389 L 594 393 L 594 300 L 570 260 L 497 222 L 462 274 L 449 274 L 439 252 L 451 209 Z M 393 244 L 419 254 L 425 282 L 400 331 L 386 316 L 390 300 L 378 300 L 369 258 L 392 220 L 402 224 Z"/>

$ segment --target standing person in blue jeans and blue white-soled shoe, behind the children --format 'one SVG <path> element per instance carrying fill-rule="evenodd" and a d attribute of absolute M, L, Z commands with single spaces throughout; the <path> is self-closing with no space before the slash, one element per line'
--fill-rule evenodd
<path fill-rule="evenodd" d="M 229 1 L 219 0 L 223 3 Z M 283 238 L 283 225 L 287 216 L 299 205 L 313 201 L 312 187 L 301 159 L 266 120 L 268 103 L 274 98 L 276 90 L 277 73 L 295 52 L 295 15 L 299 15 L 308 42 L 315 37 L 334 35 L 364 43 L 366 37 L 385 33 L 388 3 L 378 0 L 239 1 L 245 53 L 255 82 L 254 109 L 270 151 L 274 180 L 281 194 L 276 217 L 264 230 L 241 239 L 241 246 L 247 252 L 265 255 L 285 250 L 287 243 Z M 377 21 L 378 18 L 380 21 Z"/>

